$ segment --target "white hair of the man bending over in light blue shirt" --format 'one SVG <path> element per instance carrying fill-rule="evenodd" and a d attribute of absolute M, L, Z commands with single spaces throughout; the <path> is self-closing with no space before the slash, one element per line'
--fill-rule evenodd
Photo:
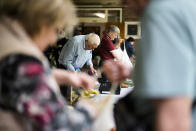
<path fill-rule="evenodd" d="M 86 35 L 85 39 L 88 41 L 88 44 L 97 44 L 97 46 L 100 44 L 100 38 L 95 33 L 90 33 Z"/>

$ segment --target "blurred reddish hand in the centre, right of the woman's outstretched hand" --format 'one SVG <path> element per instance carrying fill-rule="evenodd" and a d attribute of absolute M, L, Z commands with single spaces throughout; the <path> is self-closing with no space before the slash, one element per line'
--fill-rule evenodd
<path fill-rule="evenodd" d="M 120 61 L 106 61 L 103 64 L 103 72 L 111 82 L 120 82 L 130 76 L 131 67 Z"/>

